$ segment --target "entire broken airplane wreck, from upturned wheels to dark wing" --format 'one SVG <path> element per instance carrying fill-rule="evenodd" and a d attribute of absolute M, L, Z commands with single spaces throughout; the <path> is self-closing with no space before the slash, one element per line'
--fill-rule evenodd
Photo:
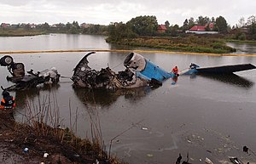
<path fill-rule="evenodd" d="M 199 65 L 189 65 L 188 69 L 179 71 L 178 74 L 168 72 L 144 58 L 141 54 L 128 54 L 124 60 L 125 71 L 118 73 L 112 71 L 109 67 L 102 68 L 101 71 L 91 69 L 88 57 L 95 52 L 84 55 L 84 58 L 75 66 L 73 76 L 73 88 L 103 88 L 103 89 L 124 89 L 141 87 L 159 87 L 166 79 L 177 78 L 179 75 L 194 74 L 224 74 L 230 75 L 236 71 L 247 71 L 255 69 L 251 64 L 242 65 L 224 65 L 214 67 L 200 67 Z M 34 73 L 32 70 L 25 74 L 25 66 L 22 63 L 15 63 L 9 55 L 0 59 L 1 66 L 7 66 L 12 76 L 7 76 L 7 80 L 14 82 L 15 85 L 6 88 L 8 90 L 19 90 L 27 88 L 36 88 L 39 84 L 58 83 L 61 75 L 53 67 L 44 71 Z"/>

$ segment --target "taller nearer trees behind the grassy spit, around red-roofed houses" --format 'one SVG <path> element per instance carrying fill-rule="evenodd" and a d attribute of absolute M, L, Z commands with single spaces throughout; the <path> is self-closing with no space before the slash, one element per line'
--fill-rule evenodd
<path fill-rule="evenodd" d="M 212 27 L 210 25 L 212 24 Z M 177 37 L 183 36 L 185 31 L 188 31 L 194 25 L 206 26 L 206 31 L 218 31 L 220 34 L 230 34 L 230 31 L 238 29 L 234 33 L 231 33 L 230 37 L 235 39 L 251 39 L 256 40 L 256 19 L 255 16 L 250 16 L 247 22 L 244 19 L 239 20 L 239 24 L 232 28 L 228 25 L 227 21 L 223 16 L 218 16 L 216 19 L 211 19 L 203 16 L 199 16 L 198 19 L 193 17 L 184 20 L 183 25 L 170 25 L 169 21 L 166 20 L 165 26 L 166 31 L 164 33 L 158 32 L 159 26 L 155 16 L 138 16 L 132 18 L 126 23 L 111 23 L 108 25 L 108 40 L 118 42 L 123 38 L 134 38 L 138 36 L 149 36 L 149 37 Z M 241 30 L 241 27 L 246 28 L 246 31 Z M 247 37 L 247 38 L 246 38 Z"/>

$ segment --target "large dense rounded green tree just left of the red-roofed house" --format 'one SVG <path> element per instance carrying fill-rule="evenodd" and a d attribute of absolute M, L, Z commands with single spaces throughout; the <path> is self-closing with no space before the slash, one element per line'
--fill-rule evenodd
<path fill-rule="evenodd" d="M 139 36 L 153 36 L 158 27 L 155 16 L 138 16 L 129 20 L 126 25 Z"/>

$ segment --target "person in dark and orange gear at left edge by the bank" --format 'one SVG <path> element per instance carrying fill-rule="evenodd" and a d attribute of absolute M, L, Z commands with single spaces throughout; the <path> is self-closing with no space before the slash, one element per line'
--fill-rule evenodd
<path fill-rule="evenodd" d="M 3 91 L 3 99 L 1 100 L 1 110 L 12 110 L 15 108 L 15 98 L 9 94 L 8 91 Z"/>

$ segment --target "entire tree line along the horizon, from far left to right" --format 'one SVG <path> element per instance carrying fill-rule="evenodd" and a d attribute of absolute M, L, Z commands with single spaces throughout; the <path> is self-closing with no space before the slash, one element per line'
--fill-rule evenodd
<path fill-rule="evenodd" d="M 117 42 L 124 38 L 134 38 L 139 36 L 148 37 L 177 37 L 184 34 L 194 25 L 205 25 L 206 31 L 218 31 L 222 34 L 228 34 L 233 29 L 238 29 L 233 37 L 236 39 L 252 39 L 256 40 L 256 19 L 255 16 L 250 16 L 247 21 L 242 17 L 238 20 L 236 26 L 230 27 L 223 16 L 218 16 L 216 19 L 211 19 L 207 16 L 199 16 L 196 20 L 193 17 L 185 19 L 183 25 L 171 25 L 168 20 L 165 22 L 166 31 L 158 31 L 158 21 L 154 15 L 137 16 L 131 20 L 124 22 L 111 22 L 110 25 L 79 25 L 78 21 L 73 23 L 67 22 L 67 24 L 59 23 L 55 25 L 49 25 L 47 22 L 44 24 L 36 25 L 34 28 L 56 33 L 71 33 L 71 34 L 103 34 L 108 35 L 108 40 Z M 212 25 L 210 27 L 210 25 Z M 242 31 L 241 28 L 246 27 L 247 31 Z M 27 31 L 32 30 L 30 24 L 18 24 L 13 28 L 23 28 Z M 3 29 L 3 28 L 2 28 Z M 240 29 L 240 30 L 239 30 Z"/>

